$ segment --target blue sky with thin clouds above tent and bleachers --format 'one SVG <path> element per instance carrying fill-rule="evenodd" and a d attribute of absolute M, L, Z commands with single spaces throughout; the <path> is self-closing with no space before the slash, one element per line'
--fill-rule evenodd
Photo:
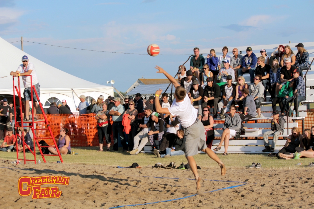
<path fill-rule="evenodd" d="M 313 0 L 0 0 L 0 37 L 90 50 L 192 54 L 194 47 L 313 41 Z M 20 48 L 20 43 L 13 43 Z M 164 78 L 188 56 L 91 52 L 24 42 L 24 51 L 62 71 L 126 91 L 138 78 Z M 189 62 L 186 64 L 189 67 Z M 38 69 L 39 70 L 39 69 Z"/>

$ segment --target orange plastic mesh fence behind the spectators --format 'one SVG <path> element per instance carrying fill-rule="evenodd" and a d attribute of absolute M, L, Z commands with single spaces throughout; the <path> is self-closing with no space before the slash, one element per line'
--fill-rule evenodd
<path fill-rule="evenodd" d="M 144 116 L 143 113 L 138 114 L 138 119 Z M 97 120 L 95 119 L 95 114 L 86 115 L 46 115 L 48 122 L 51 126 L 52 133 L 57 141 L 60 134 L 60 128 L 65 127 L 70 130 L 68 135 L 71 139 L 71 146 L 99 146 L 98 143 L 98 133 L 97 133 Z M 43 119 L 42 115 L 37 115 L 38 119 Z M 258 120 L 259 123 L 270 123 L 270 120 Z M 224 121 L 216 120 L 215 123 L 224 123 Z M 254 123 L 254 121 L 250 121 Z M 299 127 L 302 127 L 302 122 L 298 121 Z M 111 120 L 112 124 L 112 120 Z M 311 128 L 314 125 L 314 109 L 307 111 L 307 117 L 305 118 L 304 128 Z M 37 128 L 47 128 L 45 123 L 37 123 Z M 292 127 L 291 127 L 292 128 Z M 301 129 L 301 128 L 300 128 Z M 36 131 L 37 137 L 48 137 L 49 133 L 45 131 Z M 52 145 L 53 142 L 50 140 L 46 141 L 47 144 Z M 113 143 L 113 137 L 111 135 L 111 143 Z M 104 139 L 104 146 L 106 146 L 106 141 Z"/>

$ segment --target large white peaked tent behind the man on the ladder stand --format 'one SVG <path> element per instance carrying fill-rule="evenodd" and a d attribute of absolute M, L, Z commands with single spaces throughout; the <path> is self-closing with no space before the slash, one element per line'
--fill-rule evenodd
<path fill-rule="evenodd" d="M 0 38 L 0 76 L 9 76 L 11 71 L 16 71 L 22 64 L 22 56 L 27 55 L 30 62 L 34 63 L 40 84 L 40 100 L 44 107 L 49 107 L 50 102 L 58 102 L 65 99 L 72 112 L 76 112 L 76 106 L 80 102 L 71 88 L 80 96 L 84 94 L 87 99 L 91 97 L 97 100 L 99 95 L 105 98 L 113 96 L 113 87 L 85 81 L 76 76 L 52 67 L 41 60 L 16 48 L 4 39 Z M 15 78 L 17 81 L 17 78 Z M 23 81 L 20 78 L 21 92 L 24 91 Z M 17 85 L 17 82 L 16 84 Z M 12 76 L 0 78 L 0 94 L 13 95 Z"/>

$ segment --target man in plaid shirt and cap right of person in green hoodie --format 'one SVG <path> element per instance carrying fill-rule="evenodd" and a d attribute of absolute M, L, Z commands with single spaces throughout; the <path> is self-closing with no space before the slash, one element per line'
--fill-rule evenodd
<path fill-rule="evenodd" d="M 298 94 L 298 100 L 295 97 L 294 100 L 294 110 L 296 111 L 299 108 L 300 102 L 305 100 L 306 94 L 305 94 L 305 83 L 303 81 L 303 78 L 300 76 L 300 71 L 299 69 L 295 69 L 292 71 L 294 79 L 292 81 L 295 81 L 295 91 L 293 94 L 295 95 L 296 93 Z M 284 97 L 282 99 L 282 104 L 284 106 L 285 111 L 289 111 L 289 102 L 292 102 L 293 97 Z"/>

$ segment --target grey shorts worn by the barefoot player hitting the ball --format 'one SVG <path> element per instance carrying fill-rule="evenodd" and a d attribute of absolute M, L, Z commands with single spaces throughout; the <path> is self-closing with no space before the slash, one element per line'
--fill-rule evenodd
<path fill-rule="evenodd" d="M 198 154 L 198 150 L 206 149 L 206 137 L 203 123 L 196 119 L 190 127 L 184 128 L 185 156 Z"/>

